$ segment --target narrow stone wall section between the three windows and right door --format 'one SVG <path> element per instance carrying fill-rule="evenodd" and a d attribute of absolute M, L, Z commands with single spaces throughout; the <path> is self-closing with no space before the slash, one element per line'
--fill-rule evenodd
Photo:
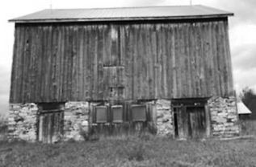
<path fill-rule="evenodd" d="M 157 100 L 157 135 L 174 136 L 174 125 L 170 100 Z"/>

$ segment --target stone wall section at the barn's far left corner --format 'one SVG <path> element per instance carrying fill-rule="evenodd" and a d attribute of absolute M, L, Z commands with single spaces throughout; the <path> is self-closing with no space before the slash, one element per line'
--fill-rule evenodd
<path fill-rule="evenodd" d="M 36 141 L 36 104 L 10 104 L 8 137 L 10 140 Z"/>

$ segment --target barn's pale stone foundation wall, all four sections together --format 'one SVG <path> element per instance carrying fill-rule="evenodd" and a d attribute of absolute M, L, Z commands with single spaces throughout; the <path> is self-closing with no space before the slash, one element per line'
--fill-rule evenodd
<path fill-rule="evenodd" d="M 146 102 L 153 105 L 153 120 L 157 126 L 158 136 L 174 136 L 174 119 L 171 100 Z M 64 112 L 63 140 L 83 141 L 83 134 L 89 130 L 91 122 L 89 110 L 98 103 L 67 102 Z M 239 135 L 237 104 L 235 97 L 215 97 L 208 100 L 211 136 L 231 137 Z M 10 104 L 9 139 L 36 141 L 37 117 L 39 109 L 36 104 Z"/>

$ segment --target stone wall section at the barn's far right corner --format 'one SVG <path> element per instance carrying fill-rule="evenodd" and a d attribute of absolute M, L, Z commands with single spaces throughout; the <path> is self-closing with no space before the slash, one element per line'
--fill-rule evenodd
<path fill-rule="evenodd" d="M 222 138 L 239 135 L 235 97 L 212 98 L 208 100 L 208 107 L 211 113 L 212 136 Z"/>

